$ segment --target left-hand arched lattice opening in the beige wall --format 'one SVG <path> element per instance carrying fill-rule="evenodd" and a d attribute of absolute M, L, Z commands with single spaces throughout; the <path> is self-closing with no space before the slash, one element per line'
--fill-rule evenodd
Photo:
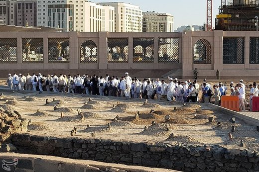
<path fill-rule="evenodd" d="M 80 63 L 97 63 L 97 46 L 94 41 L 86 40 L 80 46 Z"/>

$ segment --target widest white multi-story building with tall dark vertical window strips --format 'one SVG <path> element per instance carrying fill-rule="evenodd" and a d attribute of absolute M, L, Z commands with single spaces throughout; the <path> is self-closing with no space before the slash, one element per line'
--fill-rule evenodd
<path fill-rule="evenodd" d="M 80 32 L 114 31 L 112 6 L 85 0 L 38 0 L 37 8 L 37 26 Z"/>

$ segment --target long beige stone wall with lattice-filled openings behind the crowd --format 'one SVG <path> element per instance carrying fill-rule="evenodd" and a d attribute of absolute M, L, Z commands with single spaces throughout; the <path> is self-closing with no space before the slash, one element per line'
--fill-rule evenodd
<path fill-rule="evenodd" d="M 242 37 L 245 39 L 245 63 L 223 64 L 223 37 Z M 2 64 L 0 70 L 11 73 L 13 70 L 178 70 L 182 69 L 183 78 L 193 77 L 193 70 L 199 70 L 200 77 L 213 78 L 218 69 L 221 76 L 258 76 L 259 65 L 250 64 L 250 38 L 259 37 L 259 32 L 179 32 L 179 33 L 119 33 L 119 32 L 0 32 L 0 38 L 17 38 L 17 64 Z M 43 38 L 43 64 L 22 63 L 22 38 Z M 69 63 L 48 63 L 48 39 L 69 38 Z M 129 63 L 109 63 L 107 60 L 108 38 L 127 38 L 129 42 Z M 133 38 L 154 39 L 153 63 L 133 63 Z M 158 39 L 179 38 L 179 63 L 158 63 Z M 194 64 L 194 45 L 205 39 L 211 45 L 211 64 Z M 86 40 L 92 40 L 97 45 L 98 62 L 95 64 L 80 63 L 80 46 Z M 12 71 L 11 71 L 12 70 Z M 160 76 L 157 76 L 160 77 Z"/>

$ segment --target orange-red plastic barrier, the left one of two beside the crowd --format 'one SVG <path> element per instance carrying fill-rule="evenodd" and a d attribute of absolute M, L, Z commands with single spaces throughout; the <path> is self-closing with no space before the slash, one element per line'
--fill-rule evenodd
<path fill-rule="evenodd" d="M 221 106 L 230 110 L 239 111 L 239 97 L 236 95 L 223 95 L 221 96 Z"/>

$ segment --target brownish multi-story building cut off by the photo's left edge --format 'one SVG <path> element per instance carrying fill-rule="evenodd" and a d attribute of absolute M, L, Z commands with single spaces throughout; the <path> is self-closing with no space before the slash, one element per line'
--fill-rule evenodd
<path fill-rule="evenodd" d="M 0 24 L 16 25 L 16 1 L 0 1 Z"/>

